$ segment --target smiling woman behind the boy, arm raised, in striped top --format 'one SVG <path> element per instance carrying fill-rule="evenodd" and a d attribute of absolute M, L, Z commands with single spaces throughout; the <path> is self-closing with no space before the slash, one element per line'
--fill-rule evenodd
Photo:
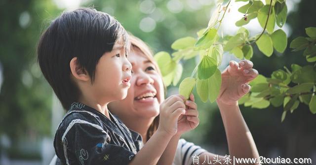
<path fill-rule="evenodd" d="M 132 50 L 128 60 L 132 64 L 131 87 L 125 99 L 111 102 L 109 108 L 129 129 L 139 132 L 143 137 L 143 142 L 146 143 L 158 126 L 159 104 L 164 99 L 164 88 L 161 73 L 150 48 L 135 36 L 130 36 L 130 42 Z M 252 62 L 248 60 L 242 60 L 239 63 L 231 61 L 222 72 L 222 85 L 216 102 L 227 135 L 230 159 L 233 159 L 233 156 L 237 158 L 259 157 L 252 135 L 237 103 L 238 99 L 249 92 L 248 82 L 258 75 L 258 71 L 252 66 Z M 190 96 L 190 99 L 194 101 L 193 95 Z M 185 115 L 183 118 L 189 116 L 194 117 L 197 114 Z M 183 132 L 192 128 L 185 128 Z M 164 162 L 163 165 L 171 164 L 173 161 L 175 165 L 190 165 L 193 161 L 192 156 L 195 155 L 199 156 L 199 164 L 207 163 L 207 159 L 213 160 L 216 157 L 215 154 L 209 153 L 193 143 L 188 143 L 184 139 L 179 140 L 183 132 L 178 130 L 178 133 L 170 140 L 162 155 L 170 157 L 170 162 Z M 177 150 L 175 157 L 172 154 L 174 150 Z M 224 163 L 223 159 L 223 156 L 218 156 L 218 160 L 222 160 L 221 162 Z"/>

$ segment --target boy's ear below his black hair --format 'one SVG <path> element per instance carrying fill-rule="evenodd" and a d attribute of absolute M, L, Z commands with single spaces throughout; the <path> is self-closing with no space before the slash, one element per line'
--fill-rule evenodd
<path fill-rule="evenodd" d="M 90 76 L 88 72 L 79 64 L 79 60 L 77 57 L 71 59 L 70 70 L 76 79 L 81 81 L 89 81 Z"/>

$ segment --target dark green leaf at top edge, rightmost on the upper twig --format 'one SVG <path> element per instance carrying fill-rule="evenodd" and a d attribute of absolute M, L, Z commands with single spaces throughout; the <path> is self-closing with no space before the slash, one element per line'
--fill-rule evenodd
<path fill-rule="evenodd" d="M 282 28 L 286 22 L 287 6 L 285 3 L 280 3 L 277 1 L 274 8 L 276 13 L 276 25 Z"/>

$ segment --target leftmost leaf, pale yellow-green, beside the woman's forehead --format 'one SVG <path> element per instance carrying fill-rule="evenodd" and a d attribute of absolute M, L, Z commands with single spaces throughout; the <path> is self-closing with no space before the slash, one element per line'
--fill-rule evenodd
<path fill-rule="evenodd" d="M 158 63 L 162 76 L 168 75 L 176 67 L 176 63 L 167 52 L 158 52 L 154 58 Z"/>

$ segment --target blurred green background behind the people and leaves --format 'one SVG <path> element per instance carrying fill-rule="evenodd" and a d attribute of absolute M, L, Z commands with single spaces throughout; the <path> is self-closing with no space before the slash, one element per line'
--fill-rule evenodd
<path fill-rule="evenodd" d="M 147 42 L 154 52 L 172 53 L 170 45 L 180 37 L 197 37 L 207 26 L 216 0 L 0 0 L 0 165 L 47 165 L 54 155 L 53 137 L 64 115 L 61 105 L 43 78 L 36 60 L 40 33 L 63 10 L 95 7 L 115 16 L 123 27 Z M 233 2 L 222 32 L 234 35 L 235 22 L 243 17 Z M 316 0 L 286 0 L 287 23 L 283 30 L 290 42 L 316 27 Z M 250 35 L 262 31 L 257 19 L 246 26 Z M 295 63 L 306 65 L 302 52 L 287 49 L 270 58 L 254 48 L 253 63 L 259 73 Z M 232 55 L 224 55 L 221 69 Z M 190 76 L 197 59 L 182 62 L 182 79 Z M 169 87 L 168 95 L 178 87 Z M 225 130 L 216 104 L 197 99 L 200 124 L 184 138 L 215 154 L 228 154 Z M 259 154 L 267 158 L 312 158 L 316 161 L 316 115 L 300 105 L 280 122 L 282 108 L 251 109 L 240 106 Z"/>

